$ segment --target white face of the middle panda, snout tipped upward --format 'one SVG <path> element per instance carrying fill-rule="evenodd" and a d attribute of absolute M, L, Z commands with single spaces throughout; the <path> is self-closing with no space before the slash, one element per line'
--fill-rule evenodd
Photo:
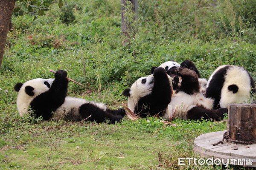
<path fill-rule="evenodd" d="M 141 77 L 131 85 L 129 96 L 128 96 L 128 108 L 134 111 L 134 107 L 138 100 L 148 94 L 151 94 L 152 88 L 154 86 L 153 74 L 148 77 Z"/>

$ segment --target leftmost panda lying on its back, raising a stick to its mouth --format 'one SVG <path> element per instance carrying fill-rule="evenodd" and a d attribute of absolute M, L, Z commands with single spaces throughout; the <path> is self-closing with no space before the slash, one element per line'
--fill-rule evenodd
<path fill-rule="evenodd" d="M 119 122 L 125 115 L 124 109 L 111 110 L 103 103 L 89 102 L 85 99 L 68 97 L 67 72 L 58 70 L 55 79 L 32 79 L 17 83 L 17 108 L 20 116 L 32 111 L 35 117 L 42 116 L 44 120 L 52 117 L 80 121 Z"/>

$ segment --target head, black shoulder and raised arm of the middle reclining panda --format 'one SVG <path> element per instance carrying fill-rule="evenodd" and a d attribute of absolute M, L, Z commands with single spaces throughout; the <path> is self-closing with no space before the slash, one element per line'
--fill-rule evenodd
<path fill-rule="evenodd" d="M 128 108 L 140 117 L 163 116 L 171 102 L 172 88 L 165 69 L 154 69 L 153 75 L 141 77 L 125 89 L 122 94 L 128 97 Z"/>

